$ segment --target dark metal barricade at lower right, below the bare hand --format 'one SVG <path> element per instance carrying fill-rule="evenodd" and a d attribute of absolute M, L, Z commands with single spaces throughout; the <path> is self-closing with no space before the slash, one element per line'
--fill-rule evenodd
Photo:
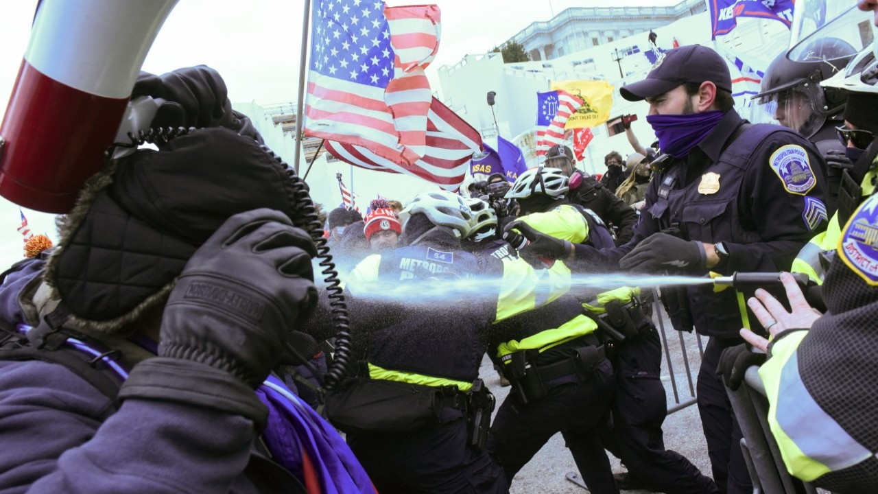
<path fill-rule="evenodd" d="M 768 428 L 768 399 L 759 367 L 747 369 L 736 391 L 726 388 L 744 438 L 741 449 L 753 481 L 754 494 L 817 494 L 810 483 L 789 475 L 781 451 Z"/>

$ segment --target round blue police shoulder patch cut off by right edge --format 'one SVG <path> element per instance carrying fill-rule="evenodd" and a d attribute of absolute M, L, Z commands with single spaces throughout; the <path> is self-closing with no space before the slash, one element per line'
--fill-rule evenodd
<path fill-rule="evenodd" d="M 869 285 L 878 286 L 878 195 L 860 204 L 841 230 L 838 256 Z"/>

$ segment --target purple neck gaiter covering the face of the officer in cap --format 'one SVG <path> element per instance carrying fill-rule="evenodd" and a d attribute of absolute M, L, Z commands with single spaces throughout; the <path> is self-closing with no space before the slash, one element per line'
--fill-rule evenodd
<path fill-rule="evenodd" d="M 680 158 L 716 127 L 725 112 L 714 110 L 704 113 L 683 115 L 647 115 L 646 121 L 659 139 L 659 149 L 663 153 Z"/>

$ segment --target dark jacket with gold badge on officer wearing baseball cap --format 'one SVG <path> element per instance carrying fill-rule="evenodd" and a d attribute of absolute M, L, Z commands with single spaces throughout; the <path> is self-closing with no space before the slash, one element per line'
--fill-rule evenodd
<path fill-rule="evenodd" d="M 646 206 L 630 243 L 577 257 L 608 265 L 644 238 L 679 229 L 687 240 L 723 242 L 730 257 L 711 268 L 732 272 L 788 270 L 795 254 L 825 228 L 823 166 L 817 149 L 786 127 L 745 125 L 730 110 L 689 154 L 672 158 L 646 191 Z M 737 134 L 737 135 L 736 135 Z M 694 327 L 702 334 L 738 338 L 742 320 L 736 294 L 711 285 L 687 287 Z"/>

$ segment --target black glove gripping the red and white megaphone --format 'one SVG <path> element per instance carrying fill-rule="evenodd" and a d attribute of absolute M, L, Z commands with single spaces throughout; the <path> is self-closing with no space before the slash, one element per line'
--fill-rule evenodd
<path fill-rule="evenodd" d="M 247 116 L 232 110 L 219 72 L 206 65 L 176 69 L 162 76 L 140 72 L 131 98 L 140 96 L 165 100 L 151 127 L 227 127 L 263 142 Z"/>

